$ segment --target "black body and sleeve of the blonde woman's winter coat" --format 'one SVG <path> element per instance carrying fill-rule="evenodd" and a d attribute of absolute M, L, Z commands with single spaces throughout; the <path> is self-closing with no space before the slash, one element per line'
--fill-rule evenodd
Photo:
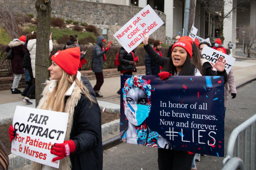
<path fill-rule="evenodd" d="M 102 138 L 99 127 L 101 127 L 99 105 L 93 103 L 91 106 L 90 100 L 82 95 L 74 110 L 70 134 L 70 139 L 76 146 L 74 153 L 69 156 L 72 169 L 102 170 Z"/>

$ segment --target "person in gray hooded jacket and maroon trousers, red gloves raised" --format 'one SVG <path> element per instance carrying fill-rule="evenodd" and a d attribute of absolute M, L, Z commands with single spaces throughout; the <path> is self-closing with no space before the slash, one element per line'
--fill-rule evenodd
<path fill-rule="evenodd" d="M 101 90 L 101 86 L 104 83 L 103 64 L 106 60 L 105 53 L 109 50 L 109 47 L 107 47 L 106 49 L 103 48 L 103 46 L 105 45 L 105 41 L 106 40 L 103 36 L 97 37 L 96 45 L 93 48 L 93 57 L 91 60 L 91 69 L 96 76 L 96 84 L 93 87 L 93 90 L 95 91 L 96 97 L 100 98 L 103 97 L 99 90 Z"/>

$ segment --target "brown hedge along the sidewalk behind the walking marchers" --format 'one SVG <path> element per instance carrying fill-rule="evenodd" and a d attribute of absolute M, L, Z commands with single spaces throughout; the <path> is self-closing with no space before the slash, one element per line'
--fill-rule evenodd
<path fill-rule="evenodd" d="M 4 70 L 11 70 L 10 69 L 10 63 L 8 62 L 7 58 L 7 52 L 5 52 L 6 45 L 0 44 L 0 65 L 1 69 Z M 93 46 L 81 46 L 82 50 L 86 51 L 85 59 L 87 61 L 86 64 L 83 65 L 82 70 L 90 70 L 91 69 L 91 58 L 93 56 Z M 51 56 L 55 54 L 57 51 L 62 50 L 63 46 L 57 45 L 53 46 L 53 50 L 51 52 Z M 109 51 L 106 53 L 106 61 L 104 62 L 103 68 L 117 68 L 114 64 L 114 60 L 116 59 L 116 55 L 119 52 L 120 47 L 119 46 L 112 46 L 109 48 Z M 163 56 L 167 56 L 168 47 L 162 47 L 162 53 Z M 144 66 L 144 60 L 145 60 L 146 51 L 144 50 L 144 47 L 136 47 L 135 48 L 135 56 L 138 56 L 139 62 L 136 64 L 136 66 Z M 51 57 L 50 56 L 50 57 Z M 50 64 L 50 57 L 49 57 L 49 64 Z M 10 72 L 10 74 L 12 74 Z"/>

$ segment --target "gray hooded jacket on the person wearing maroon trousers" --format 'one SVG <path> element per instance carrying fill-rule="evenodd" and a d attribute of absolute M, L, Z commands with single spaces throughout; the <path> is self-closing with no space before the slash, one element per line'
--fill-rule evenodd
<path fill-rule="evenodd" d="M 96 45 L 93 48 L 93 58 L 91 61 L 93 72 L 102 72 L 103 69 L 103 54 L 106 53 L 105 50 L 101 50 L 103 39 L 105 39 L 103 36 L 98 36 Z"/>

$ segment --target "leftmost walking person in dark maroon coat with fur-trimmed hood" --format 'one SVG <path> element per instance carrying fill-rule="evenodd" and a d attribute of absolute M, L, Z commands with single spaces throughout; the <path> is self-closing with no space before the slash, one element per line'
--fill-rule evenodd
<path fill-rule="evenodd" d="M 13 56 L 11 59 L 12 72 L 14 74 L 14 79 L 12 82 L 12 94 L 20 94 L 21 91 L 18 90 L 19 81 L 22 74 L 24 74 L 24 68 L 22 67 L 23 57 L 26 53 L 24 42 L 19 39 L 13 39 L 8 46 L 5 48 L 6 52 L 9 52 L 12 48 Z"/>

